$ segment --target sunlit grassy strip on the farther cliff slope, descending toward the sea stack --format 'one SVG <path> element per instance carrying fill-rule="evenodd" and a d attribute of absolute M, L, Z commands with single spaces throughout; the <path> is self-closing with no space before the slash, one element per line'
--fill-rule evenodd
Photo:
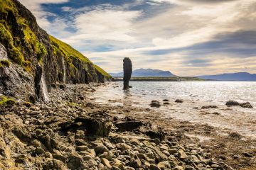
<path fill-rule="evenodd" d="M 66 44 L 65 42 L 62 42 L 58 40 L 57 38 L 54 38 L 53 36 L 50 36 L 50 42 L 53 45 L 53 50 L 56 55 L 56 53 L 60 53 L 63 57 L 65 57 L 65 60 L 72 66 L 72 61 L 73 58 L 77 58 L 78 60 L 85 62 L 85 63 L 90 63 L 92 62 L 87 59 L 84 55 L 82 55 L 78 50 L 75 50 L 73 47 L 70 45 Z M 105 72 L 102 68 L 98 67 L 95 64 L 92 64 L 95 69 L 97 69 L 98 72 L 100 72 L 103 76 L 105 76 L 107 79 L 110 79 L 111 76 L 107 72 Z"/>

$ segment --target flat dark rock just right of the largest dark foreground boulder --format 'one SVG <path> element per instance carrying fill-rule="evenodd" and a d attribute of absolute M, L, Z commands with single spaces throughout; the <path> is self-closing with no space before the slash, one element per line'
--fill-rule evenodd
<path fill-rule="evenodd" d="M 125 122 L 119 121 L 117 123 L 114 123 L 114 125 L 118 128 L 119 131 L 132 131 L 141 127 L 143 123 L 141 121 L 132 120 Z"/>

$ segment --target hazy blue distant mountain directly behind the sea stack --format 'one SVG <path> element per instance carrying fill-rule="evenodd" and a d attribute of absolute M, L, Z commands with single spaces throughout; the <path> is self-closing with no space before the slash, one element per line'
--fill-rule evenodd
<path fill-rule="evenodd" d="M 123 74 L 123 72 L 110 73 L 112 77 L 123 77 Z M 132 72 L 132 77 L 175 77 L 175 75 L 160 69 L 136 69 Z"/>

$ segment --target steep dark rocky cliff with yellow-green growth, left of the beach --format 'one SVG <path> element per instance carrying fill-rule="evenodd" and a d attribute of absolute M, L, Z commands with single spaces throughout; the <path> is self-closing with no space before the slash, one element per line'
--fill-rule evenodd
<path fill-rule="evenodd" d="M 46 101 L 58 84 L 110 79 L 70 45 L 48 35 L 16 0 L 0 0 L 0 94 Z"/>

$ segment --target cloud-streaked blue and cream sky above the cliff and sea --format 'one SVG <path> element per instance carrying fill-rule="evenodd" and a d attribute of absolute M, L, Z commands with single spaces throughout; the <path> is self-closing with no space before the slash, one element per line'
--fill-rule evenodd
<path fill-rule="evenodd" d="M 256 73 L 256 0 L 20 0 L 38 25 L 107 72 Z"/>

